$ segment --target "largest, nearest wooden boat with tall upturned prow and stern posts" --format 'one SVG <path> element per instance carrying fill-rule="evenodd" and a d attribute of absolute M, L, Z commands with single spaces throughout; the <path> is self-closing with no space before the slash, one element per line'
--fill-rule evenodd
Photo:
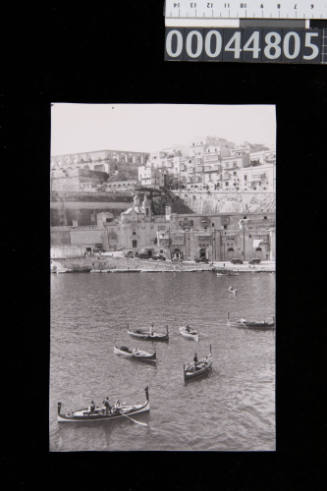
<path fill-rule="evenodd" d="M 106 408 L 104 407 L 96 407 L 94 411 L 85 408 L 63 414 L 61 413 L 62 404 L 58 402 L 57 421 L 58 423 L 90 423 L 95 421 L 115 421 L 124 417 L 129 419 L 130 416 L 150 411 L 148 387 L 145 388 L 145 395 L 146 401 L 143 404 L 121 405 L 120 407 L 112 408 L 109 414 L 106 413 Z"/>

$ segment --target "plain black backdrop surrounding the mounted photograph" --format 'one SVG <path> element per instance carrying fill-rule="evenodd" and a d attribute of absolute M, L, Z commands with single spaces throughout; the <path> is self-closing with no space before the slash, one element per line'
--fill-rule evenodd
<path fill-rule="evenodd" d="M 2 46 L 11 49 L 2 63 L 2 150 L 11 180 L 2 183 L 1 246 L 17 267 L 7 326 L 15 339 L 3 373 L 18 367 L 19 375 L 5 407 L 18 417 L 3 423 L 8 489 L 323 489 L 327 67 L 164 62 L 160 1 L 25 8 L 3 24 L 10 34 Z M 48 452 L 51 102 L 276 104 L 277 452 Z M 20 340 L 24 363 L 13 361 Z"/>

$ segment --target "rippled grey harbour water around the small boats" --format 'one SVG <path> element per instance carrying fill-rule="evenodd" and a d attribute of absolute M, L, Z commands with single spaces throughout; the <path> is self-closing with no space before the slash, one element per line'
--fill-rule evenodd
<path fill-rule="evenodd" d="M 228 292 L 232 285 L 237 295 Z M 275 315 L 275 275 L 198 273 L 51 275 L 50 450 L 275 450 L 275 332 L 227 325 Z M 127 326 L 169 326 L 169 343 L 131 338 Z M 200 331 L 199 343 L 178 327 Z M 278 328 L 278 327 L 277 327 Z M 157 367 L 114 355 L 127 345 L 157 352 Z M 212 345 L 213 371 L 184 385 L 183 363 Z M 107 423 L 58 424 L 63 412 L 101 403 L 151 411 Z"/>

